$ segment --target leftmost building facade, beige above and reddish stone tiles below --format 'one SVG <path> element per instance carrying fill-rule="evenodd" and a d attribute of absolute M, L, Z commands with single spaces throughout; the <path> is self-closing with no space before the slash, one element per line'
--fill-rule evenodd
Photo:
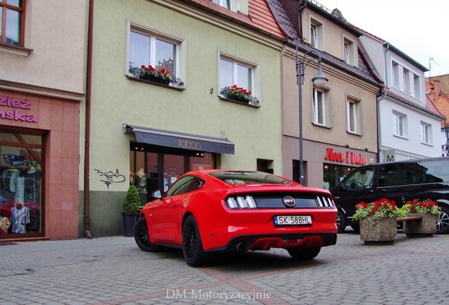
<path fill-rule="evenodd" d="M 78 238 L 86 4 L 66 2 L 0 2 L 0 240 Z"/>

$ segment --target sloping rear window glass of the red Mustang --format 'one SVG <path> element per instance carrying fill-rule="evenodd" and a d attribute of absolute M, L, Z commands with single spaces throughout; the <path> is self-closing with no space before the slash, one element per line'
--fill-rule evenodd
<path fill-rule="evenodd" d="M 210 175 L 228 184 L 292 184 L 265 172 L 212 172 Z"/>

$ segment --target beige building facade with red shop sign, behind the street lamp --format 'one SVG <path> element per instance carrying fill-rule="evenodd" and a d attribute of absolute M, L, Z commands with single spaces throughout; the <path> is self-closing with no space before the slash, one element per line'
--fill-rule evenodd
<path fill-rule="evenodd" d="M 359 51 L 361 33 L 335 12 L 316 1 L 281 0 L 282 9 L 269 2 L 275 6 L 273 11 L 280 12 L 277 18 L 291 40 L 282 56 L 283 173 L 300 181 L 302 146 L 305 184 L 329 189 L 352 169 L 378 162 L 373 114 L 381 85 Z M 318 54 L 328 77 L 321 88 L 312 82 L 318 72 Z M 301 80 L 301 126 L 297 61 L 310 61 Z M 303 129 L 302 145 L 299 128 Z"/>

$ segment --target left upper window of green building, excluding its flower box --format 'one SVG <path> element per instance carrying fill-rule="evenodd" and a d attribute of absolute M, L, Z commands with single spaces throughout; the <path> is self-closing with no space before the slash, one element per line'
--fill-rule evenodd
<path fill-rule="evenodd" d="M 172 78 L 184 80 L 184 39 L 137 25 L 131 20 L 128 23 L 127 75 L 133 74 L 132 68 L 151 65 L 156 69 L 165 68 Z"/>

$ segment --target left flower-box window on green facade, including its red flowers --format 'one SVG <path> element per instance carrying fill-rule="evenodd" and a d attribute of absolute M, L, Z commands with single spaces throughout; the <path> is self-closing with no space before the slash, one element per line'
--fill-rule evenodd
<path fill-rule="evenodd" d="M 131 78 L 184 88 L 184 38 L 128 20 L 128 65 Z"/>

